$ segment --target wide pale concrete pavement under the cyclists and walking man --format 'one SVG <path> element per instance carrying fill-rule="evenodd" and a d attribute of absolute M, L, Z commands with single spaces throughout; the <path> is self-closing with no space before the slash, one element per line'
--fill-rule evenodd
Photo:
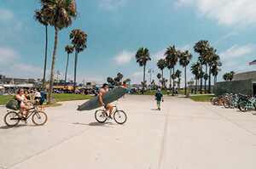
<path fill-rule="evenodd" d="M 84 100 L 47 108 L 42 127 L 6 127 L 0 107 L 0 169 L 4 168 L 255 168 L 256 115 L 211 103 L 126 95 L 125 125 L 96 122 Z"/>

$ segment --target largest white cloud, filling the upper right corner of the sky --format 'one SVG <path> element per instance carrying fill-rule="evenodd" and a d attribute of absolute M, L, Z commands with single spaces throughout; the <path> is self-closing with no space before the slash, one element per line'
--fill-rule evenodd
<path fill-rule="evenodd" d="M 256 23 L 255 0 L 179 0 L 175 7 L 196 4 L 198 13 L 218 20 L 220 25 L 247 25 Z"/>

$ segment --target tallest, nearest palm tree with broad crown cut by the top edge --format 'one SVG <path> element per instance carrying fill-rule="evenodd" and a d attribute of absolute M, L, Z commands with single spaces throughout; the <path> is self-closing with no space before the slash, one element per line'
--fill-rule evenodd
<path fill-rule="evenodd" d="M 59 0 L 59 1 L 49 1 L 40 0 L 42 7 L 42 13 L 44 14 L 49 25 L 55 27 L 55 45 L 52 57 L 52 65 L 50 71 L 50 82 L 49 82 L 49 104 L 52 104 L 52 88 L 54 81 L 54 71 L 55 71 L 55 58 L 57 52 L 58 43 L 58 32 L 63 28 L 67 28 L 72 25 L 72 18 L 77 17 L 77 7 L 75 0 Z"/>

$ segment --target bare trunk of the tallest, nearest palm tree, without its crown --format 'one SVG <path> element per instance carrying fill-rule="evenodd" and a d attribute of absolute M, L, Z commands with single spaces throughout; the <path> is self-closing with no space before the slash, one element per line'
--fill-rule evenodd
<path fill-rule="evenodd" d="M 58 45 L 58 32 L 59 28 L 55 27 L 55 47 L 52 56 L 52 64 L 50 70 L 50 80 L 49 80 L 49 104 L 52 104 L 52 88 L 54 82 L 54 74 L 55 74 L 55 59 L 56 59 L 56 52 L 57 52 L 57 45 Z"/>

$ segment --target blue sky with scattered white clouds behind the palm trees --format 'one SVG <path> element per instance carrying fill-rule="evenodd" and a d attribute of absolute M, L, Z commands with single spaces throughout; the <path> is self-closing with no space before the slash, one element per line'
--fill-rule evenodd
<path fill-rule="evenodd" d="M 217 50 L 223 66 L 218 82 L 224 81 L 224 73 L 256 70 L 249 62 L 256 59 L 256 1 L 254 0 L 77 0 L 79 17 L 73 25 L 59 31 L 55 71 L 58 79 L 64 79 L 67 53 L 71 45 L 69 34 L 81 29 L 87 36 L 87 48 L 79 53 L 77 81 L 102 84 L 107 77 L 120 72 L 131 83 L 143 81 L 143 67 L 136 63 L 135 54 L 141 47 L 148 48 L 151 61 L 146 65 L 153 69 L 151 80 L 158 83 L 161 73 L 156 63 L 164 58 L 166 48 L 189 50 L 193 55 L 189 72 L 198 54 L 194 45 L 208 40 Z M 0 74 L 15 78 L 42 79 L 44 72 L 45 27 L 33 16 L 41 6 L 38 0 L 0 1 Z M 48 27 L 47 75 L 51 69 L 55 29 Z M 184 69 L 177 65 L 176 70 Z M 73 80 L 74 53 L 70 54 L 67 80 Z M 164 77 L 169 79 L 169 70 Z M 55 74 L 55 79 L 57 75 Z M 213 78 L 212 78 L 213 81 Z M 169 83 L 169 82 L 168 82 Z M 182 87 L 184 75 L 182 76 Z"/>

